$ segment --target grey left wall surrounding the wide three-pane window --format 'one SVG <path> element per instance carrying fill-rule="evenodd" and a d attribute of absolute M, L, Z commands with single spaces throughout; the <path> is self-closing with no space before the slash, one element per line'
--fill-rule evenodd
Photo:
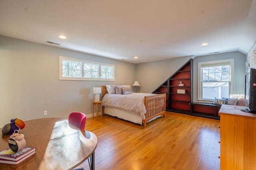
<path fill-rule="evenodd" d="M 59 80 L 59 56 L 115 64 L 116 81 Z M 92 87 L 132 85 L 135 67 L 123 61 L 0 36 L 0 127 L 13 118 L 68 118 L 72 111 L 91 114 Z M 44 116 L 45 110 L 48 115 Z"/>

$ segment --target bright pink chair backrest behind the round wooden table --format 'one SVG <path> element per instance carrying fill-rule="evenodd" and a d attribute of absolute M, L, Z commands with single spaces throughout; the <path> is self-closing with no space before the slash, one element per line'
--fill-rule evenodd
<path fill-rule="evenodd" d="M 74 125 L 75 127 L 84 130 L 86 123 L 86 115 L 80 112 L 72 112 L 68 116 L 68 122 Z"/>

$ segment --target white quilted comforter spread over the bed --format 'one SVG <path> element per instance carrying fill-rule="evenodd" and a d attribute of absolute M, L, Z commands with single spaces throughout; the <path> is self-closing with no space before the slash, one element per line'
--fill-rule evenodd
<path fill-rule="evenodd" d="M 134 111 L 144 120 L 146 108 L 144 96 L 152 96 L 151 93 L 132 93 L 132 94 L 105 94 L 102 99 L 102 106 L 118 107 Z"/>

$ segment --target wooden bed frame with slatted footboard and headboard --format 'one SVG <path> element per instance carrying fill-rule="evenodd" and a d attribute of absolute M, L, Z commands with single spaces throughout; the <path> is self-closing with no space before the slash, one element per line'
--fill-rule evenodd
<path fill-rule="evenodd" d="M 106 86 L 102 86 L 102 97 L 108 93 Z M 166 108 L 166 94 L 156 94 L 154 96 L 145 96 L 144 103 L 146 108 L 145 119 L 142 120 L 144 128 L 146 128 L 146 123 L 156 116 L 161 115 L 165 117 Z M 102 112 L 104 114 L 104 106 L 102 107 Z"/>

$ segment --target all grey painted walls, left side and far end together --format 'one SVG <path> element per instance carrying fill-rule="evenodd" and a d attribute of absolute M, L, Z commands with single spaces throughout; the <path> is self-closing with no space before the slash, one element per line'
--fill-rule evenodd
<path fill-rule="evenodd" d="M 115 64 L 116 81 L 59 80 L 59 56 Z M 42 117 L 67 118 L 72 111 L 89 115 L 94 100 L 92 87 L 132 85 L 136 80 L 141 85 L 137 92 L 151 93 L 191 57 L 131 64 L 0 36 L 0 127 L 13 118 L 24 121 Z M 246 55 L 231 52 L 201 56 L 194 59 L 194 102 L 198 94 L 197 63 L 220 59 L 235 60 L 234 90 L 244 93 Z M 46 116 L 45 110 L 48 111 Z"/>

